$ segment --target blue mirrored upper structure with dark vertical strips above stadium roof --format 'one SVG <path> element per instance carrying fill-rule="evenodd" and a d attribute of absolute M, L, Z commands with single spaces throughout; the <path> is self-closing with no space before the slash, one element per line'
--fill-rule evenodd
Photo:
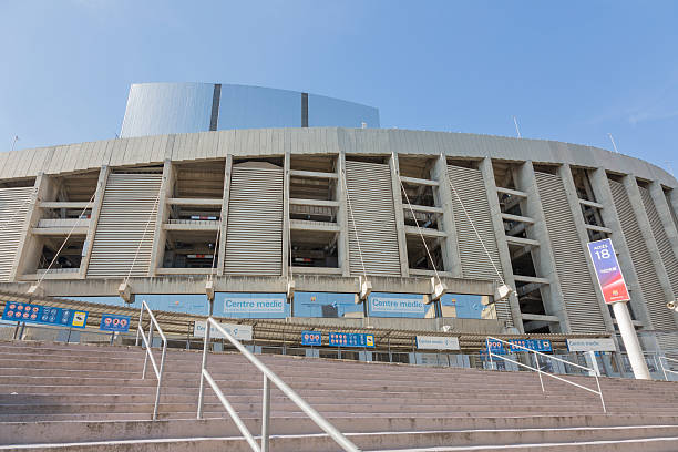
<path fill-rule="evenodd" d="M 379 127 L 379 110 L 325 95 L 220 83 L 137 83 L 120 136 L 232 129 Z"/>

